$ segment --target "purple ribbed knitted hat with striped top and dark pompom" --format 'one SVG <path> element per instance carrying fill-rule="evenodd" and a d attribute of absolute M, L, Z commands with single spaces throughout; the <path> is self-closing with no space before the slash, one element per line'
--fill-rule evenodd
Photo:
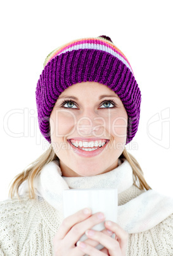
<path fill-rule="evenodd" d="M 102 83 L 120 97 L 128 115 L 129 143 L 138 130 L 141 92 L 129 61 L 108 36 L 70 41 L 49 53 L 35 91 L 44 138 L 51 143 L 49 117 L 61 92 L 87 81 Z"/>

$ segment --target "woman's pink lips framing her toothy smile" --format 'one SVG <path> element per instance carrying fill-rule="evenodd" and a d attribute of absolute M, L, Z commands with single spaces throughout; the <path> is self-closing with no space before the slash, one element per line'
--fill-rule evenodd
<path fill-rule="evenodd" d="M 76 139 L 76 140 L 81 140 L 81 138 L 73 138 L 73 139 Z M 96 141 L 96 140 L 100 140 L 100 139 L 90 139 L 90 138 L 87 138 L 89 140 L 84 140 L 84 138 L 82 139 L 82 141 Z M 68 143 L 70 144 L 70 146 L 72 147 L 72 150 L 74 150 L 75 153 L 77 153 L 78 155 L 80 155 L 81 157 L 95 157 L 96 155 L 99 155 L 101 152 L 103 152 L 103 150 L 105 149 L 106 145 L 108 144 L 109 142 L 109 139 L 106 139 L 106 143 L 105 145 L 101 146 L 101 148 L 98 148 L 94 151 L 84 151 L 84 150 L 81 150 L 80 148 L 76 148 L 71 142 L 70 142 L 70 139 L 67 139 Z"/>

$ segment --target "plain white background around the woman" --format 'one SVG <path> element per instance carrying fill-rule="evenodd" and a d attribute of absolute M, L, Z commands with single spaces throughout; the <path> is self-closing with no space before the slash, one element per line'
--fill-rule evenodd
<path fill-rule="evenodd" d="M 173 196 L 172 1 L 8 0 L 0 10 L 0 201 L 13 177 L 49 146 L 35 104 L 44 59 L 72 39 L 101 35 L 124 52 L 141 89 L 139 129 L 127 149 L 150 186 Z"/>

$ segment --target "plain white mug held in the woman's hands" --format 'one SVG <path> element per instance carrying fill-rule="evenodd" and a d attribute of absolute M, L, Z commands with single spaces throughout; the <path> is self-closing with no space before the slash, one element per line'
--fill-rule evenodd
<path fill-rule="evenodd" d="M 76 213 L 83 208 L 91 208 L 92 214 L 101 211 L 106 220 L 117 222 L 118 195 L 117 188 L 88 188 L 63 190 L 63 215 L 64 218 Z M 94 225 L 96 231 L 105 229 L 104 222 Z M 87 239 L 84 234 L 80 241 Z M 103 246 L 96 248 L 101 250 Z"/>

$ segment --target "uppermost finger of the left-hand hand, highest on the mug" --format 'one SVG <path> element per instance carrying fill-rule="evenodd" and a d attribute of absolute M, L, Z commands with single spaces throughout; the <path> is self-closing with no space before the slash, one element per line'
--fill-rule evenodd
<path fill-rule="evenodd" d="M 69 217 L 65 218 L 60 225 L 60 228 L 56 232 L 54 239 L 63 239 L 75 224 L 86 220 L 86 218 L 89 216 L 91 216 L 91 209 L 85 208 L 83 210 L 77 211 L 77 213 L 74 213 L 74 215 L 70 215 Z"/>

